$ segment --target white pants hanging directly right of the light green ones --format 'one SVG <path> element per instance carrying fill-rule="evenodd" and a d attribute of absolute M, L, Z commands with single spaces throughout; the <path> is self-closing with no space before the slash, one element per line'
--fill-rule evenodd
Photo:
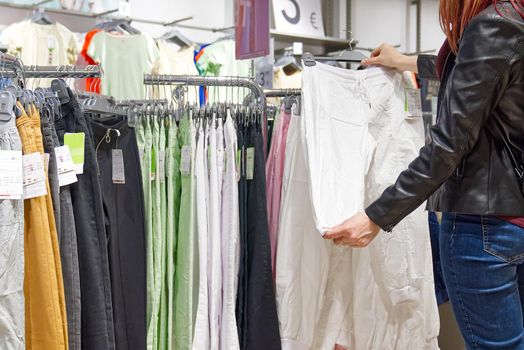
<path fill-rule="evenodd" d="M 193 350 L 210 349 L 209 329 L 209 295 L 208 295 L 208 213 L 207 213 L 207 154 L 205 153 L 206 136 L 205 126 L 198 128 L 198 139 L 195 150 L 195 178 L 196 178 L 196 218 L 198 232 L 198 262 L 199 262 L 199 288 L 198 306 L 193 335 Z"/>

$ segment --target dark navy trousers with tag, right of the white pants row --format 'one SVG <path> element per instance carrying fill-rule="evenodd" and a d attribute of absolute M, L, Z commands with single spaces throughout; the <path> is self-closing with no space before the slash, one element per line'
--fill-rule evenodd
<path fill-rule="evenodd" d="M 277 306 L 271 273 L 271 248 L 266 205 L 264 141 L 260 125 L 239 125 L 242 150 L 240 196 L 240 280 L 237 322 L 241 349 L 281 349 Z M 247 179 L 247 150 L 254 151 L 253 178 Z"/>

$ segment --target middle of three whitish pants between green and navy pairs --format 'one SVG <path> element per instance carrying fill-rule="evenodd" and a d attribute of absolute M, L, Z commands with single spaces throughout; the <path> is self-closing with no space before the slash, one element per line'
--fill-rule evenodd
<path fill-rule="evenodd" d="M 211 344 L 210 350 L 218 350 L 220 339 L 220 309 L 222 304 L 222 234 L 220 227 L 220 198 L 222 187 L 218 186 L 218 155 L 216 119 L 208 125 L 209 139 L 208 152 L 205 156 L 209 164 L 209 200 L 208 200 L 208 227 L 209 227 L 209 327 Z"/>

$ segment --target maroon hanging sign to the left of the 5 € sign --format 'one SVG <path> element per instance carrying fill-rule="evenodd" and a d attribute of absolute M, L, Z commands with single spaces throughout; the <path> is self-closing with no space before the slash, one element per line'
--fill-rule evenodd
<path fill-rule="evenodd" d="M 236 59 L 269 54 L 269 0 L 235 0 Z"/>

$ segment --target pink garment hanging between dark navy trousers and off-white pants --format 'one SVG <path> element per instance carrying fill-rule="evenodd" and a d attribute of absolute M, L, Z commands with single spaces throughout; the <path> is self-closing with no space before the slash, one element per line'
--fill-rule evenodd
<path fill-rule="evenodd" d="M 282 177 L 286 159 L 286 139 L 291 122 L 291 114 L 281 109 L 280 118 L 275 122 L 271 148 L 266 162 L 266 193 L 267 212 L 269 219 L 269 241 L 271 244 L 271 267 L 275 278 L 275 262 L 277 256 L 278 220 L 280 216 L 280 197 L 282 192 Z"/>

